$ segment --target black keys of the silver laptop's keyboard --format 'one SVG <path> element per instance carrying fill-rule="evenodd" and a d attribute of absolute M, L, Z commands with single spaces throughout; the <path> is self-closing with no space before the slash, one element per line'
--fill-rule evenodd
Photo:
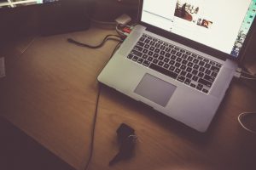
<path fill-rule="evenodd" d="M 204 94 L 209 93 L 222 66 L 216 61 L 147 34 L 140 37 L 127 58 Z"/>

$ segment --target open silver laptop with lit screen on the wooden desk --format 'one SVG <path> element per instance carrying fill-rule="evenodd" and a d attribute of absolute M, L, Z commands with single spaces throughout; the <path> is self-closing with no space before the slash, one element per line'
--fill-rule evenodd
<path fill-rule="evenodd" d="M 139 23 L 97 77 L 206 132 L 251 37 L 256 0 L 144 0 Z"/>

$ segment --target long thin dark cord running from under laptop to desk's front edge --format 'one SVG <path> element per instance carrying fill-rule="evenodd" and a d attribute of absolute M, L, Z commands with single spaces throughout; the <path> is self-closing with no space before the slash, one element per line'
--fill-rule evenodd
<path fill-rule="evenodd" d="M 119 48 L 121 43 L 122 42 L 119 42 L 115 46 L 115 48 L 113 49 L 113 53 L 111 54 L 110 58 L 112 58 L 114 52 L 116 52 L 116 50 Z M 93 117 L 93 123 L 92 123 L 92 128 L 91 128 L 90 155 L 89 155 L 88 161 L 85 164 L 84 170 L 88 169 L 88 167 L 90 165 L 90 160 L 91 160 L 92 155 L 93 155 L 94 136 L 95 136 L 95 129 L 96 129 L 96 118 L 97 118 L 97 114 L 98 114 L 98 105 L 99 105 L 99 100 L 100 100 L 100 96 L 101 96 L 101 91 L 102 91 L 102 85 L 100 83 L 99 88 L 98 88 L 97 97 L 96 97 L 96 110 L 95 110 L 95 114 L 94 114 L 94 117 Z"/>

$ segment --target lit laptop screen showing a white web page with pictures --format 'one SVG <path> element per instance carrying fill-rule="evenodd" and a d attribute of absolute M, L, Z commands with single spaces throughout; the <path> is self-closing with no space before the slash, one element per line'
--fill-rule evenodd
<path fill-rule="evenodd" d="M 143 0 L 142 21 L 237 57 L 256 0 Z"/>

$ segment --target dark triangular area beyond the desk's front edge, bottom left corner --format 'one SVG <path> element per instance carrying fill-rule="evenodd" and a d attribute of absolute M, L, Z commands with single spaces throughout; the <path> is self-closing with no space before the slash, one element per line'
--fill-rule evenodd
<path fill-rule="evenodd" d="M 2 117 L 0 150 L 0 169 L 74 169 Z"/>

